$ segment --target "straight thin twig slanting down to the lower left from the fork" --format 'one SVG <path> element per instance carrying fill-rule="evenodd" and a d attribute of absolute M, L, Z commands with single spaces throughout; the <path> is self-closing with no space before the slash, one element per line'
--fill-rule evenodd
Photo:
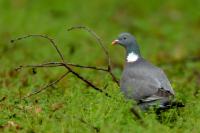
<path fill-rule="evenodd" d="M 27 97 L 30 97 L 30 96 L 35 95 L 35 94 L 38 94 L 38 93 L 44 91 L 45 89 L 47 89 L 47 88 L 53 86 L 54 84 L 56 84 L 56 83 L 58 83 L 59 81 L 61 81 L 61 80 L 62 80 L 65 76 L 67 76 L 69 73 L 70 73 L 70 71 L 66 72 L 65 74 L 63 74 L 62 76 L 60 76 L 57 80 L 55 80 L 55 81 L 53 81 L 53 82 L 47 84 L 46 86 L 40 88 L 39 90 L 37 90 L 37 91 L 35 91 L 35 92 L 33 92 L 33 93 L 28 94 L 27 96 L 23 97 L 23 99 L 26 99 Z"/>

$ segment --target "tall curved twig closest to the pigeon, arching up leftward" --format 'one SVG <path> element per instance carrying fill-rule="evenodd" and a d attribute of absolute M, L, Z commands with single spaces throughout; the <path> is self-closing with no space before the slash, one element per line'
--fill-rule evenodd
<path fill-rule="evenodd" d="M 101 46 L 103 52 L 105 53 L 105 55 L 107 57 L 107 60 L 108 60 L 107 72 L 111 75 L 113 81 L 115 81 L 117 83 L 117 85 L 119 86 L 119 81 L 117 80 L 115 75 L 112 73 L 111 60 L 110 60 L 109 53 L 108 53 L 107 49 L 105 48 L 101 38 L 93 30 L 91 30 L 85 26 L 74 26 L 74 27 L 67 29 L 67 31 L 71 31 L 71 30 L 75 30 L 75 29 L 83 29 L 83 30 L 87 31 L 88 33 L 90 33 L 92 36 L 94 36 L 94 38 L 97 40 L 98 44 Z"/>

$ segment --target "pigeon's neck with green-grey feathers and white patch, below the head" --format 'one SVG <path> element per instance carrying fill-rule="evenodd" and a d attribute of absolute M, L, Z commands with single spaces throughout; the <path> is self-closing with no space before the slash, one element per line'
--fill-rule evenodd
<path fill-rule="evenodd" d="M 135 62 L 141 57 L 139 47 L 128 47 L 126 49 L 126 61 Z"/>

